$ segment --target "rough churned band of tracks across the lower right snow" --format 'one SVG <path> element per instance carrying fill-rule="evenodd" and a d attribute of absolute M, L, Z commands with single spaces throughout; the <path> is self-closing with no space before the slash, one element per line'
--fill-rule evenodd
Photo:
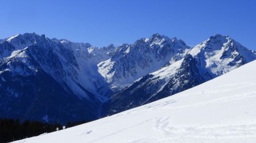
<path fill-rule="evenodd" d="M 154 128 L 163 138 L 234 138 L 256 137 L 256 124 L 228 125 L 222 127 L 174 127 L 170 117 L 158 118 Z"/>

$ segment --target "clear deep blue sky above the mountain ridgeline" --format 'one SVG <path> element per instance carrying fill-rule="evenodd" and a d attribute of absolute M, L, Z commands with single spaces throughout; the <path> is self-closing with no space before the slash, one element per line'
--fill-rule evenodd
<path fill-rule="evenodd" d="M 0 38 L 35 32 L 106 46 L 160 33 L 196 45 L 220 33 L 256 50 L 254 0 L 12 0 L 0 12 Z"/>

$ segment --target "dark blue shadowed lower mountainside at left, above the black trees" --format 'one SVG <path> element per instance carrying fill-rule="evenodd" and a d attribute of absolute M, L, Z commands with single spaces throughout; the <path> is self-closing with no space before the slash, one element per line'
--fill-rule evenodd
<path fill-rule="evenodd" d="M 81 100 L 40 69 L 30 76 L 12 76 L 5 72 L 1 80 L 0 112 L 3 118 L 61 124 L 68 120 L 98 118 L 94 102 Z"/>

